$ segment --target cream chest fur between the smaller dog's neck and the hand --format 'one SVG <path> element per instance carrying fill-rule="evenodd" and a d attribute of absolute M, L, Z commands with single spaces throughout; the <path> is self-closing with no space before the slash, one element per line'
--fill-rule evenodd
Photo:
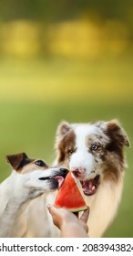
<path fill-rule="evenodd" d="M 31 200 L 26 206 L 25 212 L 19 215 L 18 229 L 14 229 L 13 237 L 25 238 L 55 238 L 59 236 L 59 229 L 53 224 L 53 220 L 47 205 L 54 204 L 56 192 L 45 193 Z"/>

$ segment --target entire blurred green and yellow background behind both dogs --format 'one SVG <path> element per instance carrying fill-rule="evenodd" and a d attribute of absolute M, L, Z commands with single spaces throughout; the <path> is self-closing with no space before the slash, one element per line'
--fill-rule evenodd
<path fill-rule="evenodd" d="M 133 143 L 132 16 L 132 0 L 0 1 L 0 181 L 10 174 L 5 155 L 50 164 L 62 120 L 118 118 Z M 126 155 L 106 237 L 133 237 L 132 147 Z"/>

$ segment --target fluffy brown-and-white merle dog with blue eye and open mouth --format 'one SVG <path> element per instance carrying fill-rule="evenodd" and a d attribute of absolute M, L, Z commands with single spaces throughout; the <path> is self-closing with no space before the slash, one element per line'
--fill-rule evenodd
<path fill-rule="evenodd" d="M 90 207 L 90 237 L 101 237 L 116 216 L 126 167 L 125 145 L 129 146 L 127 134 L 116 120 L 58 126 L 56 163 L 64 164 L 81 182 Z"/>

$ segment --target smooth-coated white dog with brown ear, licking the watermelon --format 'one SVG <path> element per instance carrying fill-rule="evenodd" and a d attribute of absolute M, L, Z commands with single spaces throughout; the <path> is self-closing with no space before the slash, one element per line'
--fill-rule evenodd
<path fill-rule="evenodd" d="M 13 172 L 0 184 L 0 237 L 36 237 L 37 232 L 39 236 L 52 236 L 52 221 L 45 223 L 45 219 L 49 218 L 49 213 L 45 211 L 45 198 L 50 191 L 58 188 L 67 176 L 67 169 L 50 168 L 43 160 L 30 159 L 25 153 L 7 155 L 7 161 L 12 165 Z M 36 205 L 35 218 L 34 210 L 28 214 L 28 207 L 36 199 L 40 202 L 38 198 L 41 195 L 43 199 L 39 205 L 42 216 L 39 216 L 40 208 Z M 38 230 L 40 227 L 36 226 L 36 219 L 42 220 L 42 231 Z M 32 220 L 34 230 L 30 227 Z"/>

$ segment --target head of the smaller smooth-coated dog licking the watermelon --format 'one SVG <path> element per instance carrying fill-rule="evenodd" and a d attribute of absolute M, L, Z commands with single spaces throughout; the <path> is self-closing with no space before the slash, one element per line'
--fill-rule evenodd
<path fill-rule="evenodd" d="M 14 169 L 15 187 L 19 192 L 22 188 L 22 193 L 26 188 L 29 197 L 57 189 L 68 173 L 65 168 L 50 168 L 43 160 L 30 159 L 26 153 L 7 155 L 6 159 Z"/>

